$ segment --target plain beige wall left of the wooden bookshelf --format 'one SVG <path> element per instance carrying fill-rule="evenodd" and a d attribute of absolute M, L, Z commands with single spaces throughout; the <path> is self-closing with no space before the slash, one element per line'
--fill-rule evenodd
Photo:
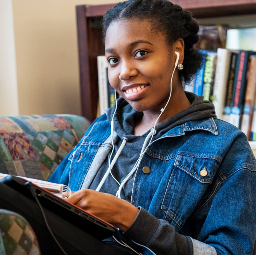
<path fill-rule="evenodd" d="M 12 0 L 18 88 L 15 100 L 4 92 L 10 91 L 10 84 L 2 82 L 1 78 L 1 116 L 52 113 L 80 115 L 75 5 L 115 2 L 118 1 Z M 6 26 L 11 29 L 10 22 Z M 1 56 L 2 51 L 3 47 Z M 14 54 L 14 49 L 12 52 Z M 2 66 L 6 59 L 8 57 L 1 58 Z M 16 77 L 15 68 L 11 72 L 11 76 Z M 10 107 L 2 104 L 3 98 L 14 99 L 18 110 L 11 111 Z"/>

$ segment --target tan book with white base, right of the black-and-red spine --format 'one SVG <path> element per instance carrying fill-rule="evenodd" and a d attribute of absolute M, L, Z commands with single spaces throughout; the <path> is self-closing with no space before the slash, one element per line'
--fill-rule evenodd
<path fill-rule="evenodd" d="M 247 139 L 250 140 L 251 133 L 251 122 L 252 122 L 252 114 L 253 114 L 253 106 L 255 102 L 255 56 L 250 56 L 248 61 L 248 69 L 247 69 L 247 85 L 245 91 L 245 99 L 244 99 L 244 109 L 241 120 L 241 131 L 244 132 L 247 136 Z"/>

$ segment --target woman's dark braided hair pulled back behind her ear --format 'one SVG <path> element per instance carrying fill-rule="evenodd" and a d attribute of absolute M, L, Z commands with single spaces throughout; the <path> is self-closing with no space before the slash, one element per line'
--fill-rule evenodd
<path fill-rule="evenodd" d="M 184 41 L 184 60 L 179 75 L 183 83 L 191 80 L 201 67 L 205 56 L 202 51 L 193 48 L 198 41 L 198 22 L 192 14 L 168 0 L 129 0 L 116 4 L 103 16 L 103 41 L 109 25 L 122 19 L 147 20 L 154 32 L 160 32 L 172 45 L 178 38 Z"/>

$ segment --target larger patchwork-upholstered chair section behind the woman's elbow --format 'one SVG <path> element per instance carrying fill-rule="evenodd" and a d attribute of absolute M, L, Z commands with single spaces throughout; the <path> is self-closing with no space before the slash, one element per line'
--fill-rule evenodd
<path fill-rule="evenodd" d="M 71 114 L 1 117 L 1 173 L 47 180 L 89 124 Z"/>

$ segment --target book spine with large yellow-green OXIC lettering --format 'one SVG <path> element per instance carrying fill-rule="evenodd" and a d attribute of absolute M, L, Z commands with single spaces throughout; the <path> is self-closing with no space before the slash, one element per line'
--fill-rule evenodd
<path fill-rule="evenodd" d="M 203 96 L 204 100 L 211 100 L 211 91 L 214 81 L 214 66 L 216 52 L 208 52 L 204 67 L 204 79 L 203 79 Z"/>

